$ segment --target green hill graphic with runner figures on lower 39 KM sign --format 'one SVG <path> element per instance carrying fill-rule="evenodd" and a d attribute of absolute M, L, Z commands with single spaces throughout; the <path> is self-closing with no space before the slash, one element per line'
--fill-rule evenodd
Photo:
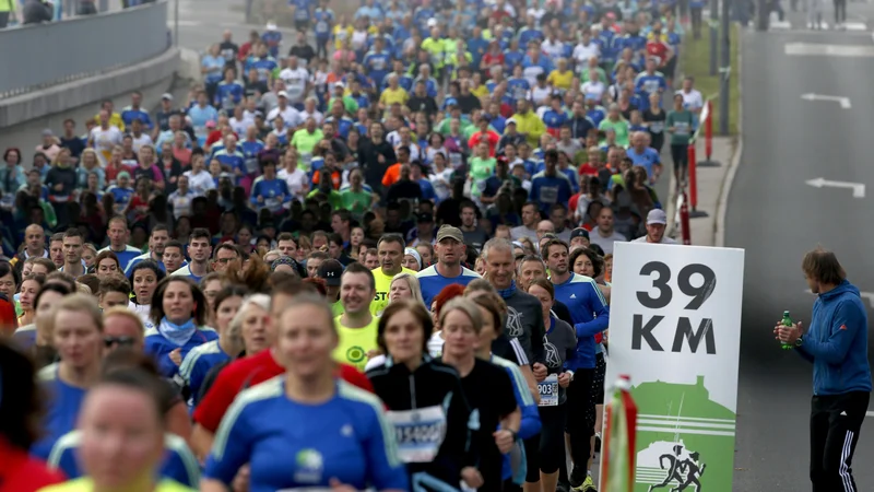
<path fill-rule="evenodd" d="M 729 492 L 735 414 L 710 400 L 704 376 L 694 385 L 641 383 L 635 492 Z"/>

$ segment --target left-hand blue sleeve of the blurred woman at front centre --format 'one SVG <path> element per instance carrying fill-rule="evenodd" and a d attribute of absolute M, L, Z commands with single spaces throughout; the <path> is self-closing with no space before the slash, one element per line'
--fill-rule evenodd
<path fill-rule="evenodd" d="M 249 461 L 253 432 L 246 419 L 246 401 L 235 401 L 222 419 L 203 477 L 231 484 L 239 468 Z"/>

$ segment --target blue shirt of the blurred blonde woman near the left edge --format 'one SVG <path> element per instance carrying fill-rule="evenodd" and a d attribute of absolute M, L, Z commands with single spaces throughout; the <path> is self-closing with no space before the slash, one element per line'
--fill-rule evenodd
<path fill-rule="evenodd" d="M 62 382 L 58 376 L 58 364 L 48 365 L 39 371 L 39 382 L 48 397 L 48 405 L 40 426 L 43 437 L 31 447 L 31 455 L 45 460 L 55 443 L 75 429 L 79 409 L 85 400 L 87 390 Z"/>

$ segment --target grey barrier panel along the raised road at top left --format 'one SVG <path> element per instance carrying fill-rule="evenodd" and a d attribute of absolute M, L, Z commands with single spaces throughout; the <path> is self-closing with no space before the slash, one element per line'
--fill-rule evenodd
<path fill-rule="evenodd" d="M 0 99 L 99 75 L 170 47 L 167 1 L 0 31 Z"/>

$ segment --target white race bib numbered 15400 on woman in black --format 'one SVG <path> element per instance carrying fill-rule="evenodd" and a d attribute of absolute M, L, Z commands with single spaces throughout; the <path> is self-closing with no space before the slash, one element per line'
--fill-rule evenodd
<path fill-rule="evenodd" d="M 430 462 L 446 438 L 446 413 L 441 407 L 388 411 L 394 426 L 398 456 L 403 462 Z"/>

